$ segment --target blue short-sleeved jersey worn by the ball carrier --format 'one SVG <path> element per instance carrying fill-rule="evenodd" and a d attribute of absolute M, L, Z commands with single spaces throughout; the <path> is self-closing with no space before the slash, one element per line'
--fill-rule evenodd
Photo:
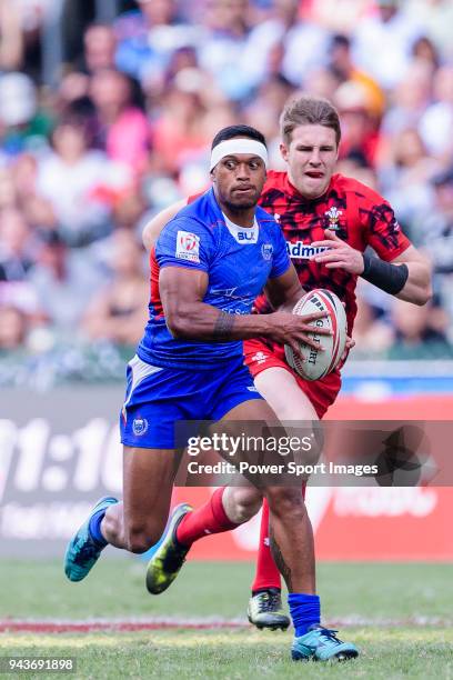
<path fill-rule="evenodd" d="M 290 258 L 281 229 L 268 212 L 256 208 L 254 226 L 238 227 L 222 213 L 212 189 L 163 228 L 151 256 L 150 316 L 138 354 L 158 367 L 209 370 L 241 357 L 242 341 L 173 338 L 159 294 L 163 267 L 205 271 L 209 283 L 203 302 L 229 314 L 250 314 L 268 279 L 283 274 Z"/>

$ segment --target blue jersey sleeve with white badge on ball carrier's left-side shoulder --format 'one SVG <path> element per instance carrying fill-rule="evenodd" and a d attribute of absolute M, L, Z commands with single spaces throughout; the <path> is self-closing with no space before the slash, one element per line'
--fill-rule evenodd
<path fill-rule="evenodd" d="M 178 217 L 162 229 L 155 243 L 159 267 L 184 267 L 209 271 L 214 253 L 210 229 L 193 218 Z"/>

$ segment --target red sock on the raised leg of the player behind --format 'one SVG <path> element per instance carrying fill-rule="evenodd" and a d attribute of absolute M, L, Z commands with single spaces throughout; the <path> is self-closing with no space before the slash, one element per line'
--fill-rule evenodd
<path fill-rule="evenodd" d="M 225 487 L 217 489 L 211 499 L 193 510 L 181 520 L 177 529 L 177 539 L 182 546 L 191 546 L 194 541 L 209 536 L 210 533 L 222 533 L 222 531 L 231 531 L 239 524 L 230 520 L 224 511 L 222 496 Z"/>

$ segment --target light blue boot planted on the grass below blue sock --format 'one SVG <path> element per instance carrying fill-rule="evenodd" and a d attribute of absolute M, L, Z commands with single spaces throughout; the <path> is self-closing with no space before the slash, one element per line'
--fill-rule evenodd
<path fill-rule="evenodd" d="M 309 632 L 294 638 L 291 657 L 293 661 L 346 661 L 355 659 L 359 650 L 351 642 L 342 642 L 336 630 L 312 626 Z"/>

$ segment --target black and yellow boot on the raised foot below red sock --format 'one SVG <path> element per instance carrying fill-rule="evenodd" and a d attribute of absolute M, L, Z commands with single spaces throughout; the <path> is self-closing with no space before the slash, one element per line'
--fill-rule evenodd
<path fill-rule="evenodd" d="M 159 548 L 148 563 L 147 589 L 151 594 L 160 594 L 167 590 L 185 562 L 185 556 L 191 546 L 181 546 L 178 542 L 177 529 L 187 513 L 192 510 L 192 506 L 181 503 L 173 509 L 170 516 L 159 541 Z"/>

